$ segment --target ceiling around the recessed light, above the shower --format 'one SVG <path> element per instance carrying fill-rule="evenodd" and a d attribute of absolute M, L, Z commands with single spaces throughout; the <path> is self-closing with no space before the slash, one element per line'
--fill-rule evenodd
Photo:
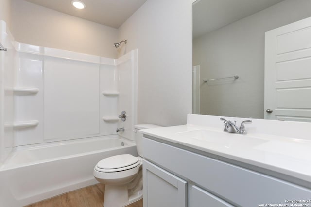
<path fill-rule="evenodd" d="M 86 8 L 79 10 L 72 0 L 26 0 L 68 15 L 119 28 L 147 0 L 80 0 Z"/>

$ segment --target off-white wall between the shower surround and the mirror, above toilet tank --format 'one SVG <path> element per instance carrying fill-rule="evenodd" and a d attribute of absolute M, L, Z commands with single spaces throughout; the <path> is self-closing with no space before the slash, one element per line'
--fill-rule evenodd
<path fill-rule="evenodd" d="M 191 113 L 192 0 L 148 0 L 119 28 L 138 48 L 138 123 L 185 124 Z"/>

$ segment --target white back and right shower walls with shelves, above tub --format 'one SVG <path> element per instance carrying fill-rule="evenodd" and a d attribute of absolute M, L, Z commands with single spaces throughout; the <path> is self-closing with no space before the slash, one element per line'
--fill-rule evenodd
<path fill-rule="evenodd" d="M 137 51 L 115 60 L 22 43 L 16 49 L 22 92 L 15 94 L 14 146 L 116 134 L 117 127 L 133 140 Z"/>

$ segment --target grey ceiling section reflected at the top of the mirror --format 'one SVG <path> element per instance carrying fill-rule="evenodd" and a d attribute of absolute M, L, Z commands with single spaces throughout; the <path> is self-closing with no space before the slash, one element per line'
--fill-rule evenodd
<path fill-rule="evenodd" d="M 197 0 L 193 4 L 193 38 L 255 14 L 283 0 Z"/>

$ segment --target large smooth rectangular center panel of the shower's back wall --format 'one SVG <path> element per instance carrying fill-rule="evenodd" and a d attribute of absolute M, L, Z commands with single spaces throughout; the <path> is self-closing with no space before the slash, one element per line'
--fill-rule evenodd
<path fill-rule="evenodd" d="M 44 139 L 100 134 L 99 82 L 99 64 L 45 57 Z"/>

